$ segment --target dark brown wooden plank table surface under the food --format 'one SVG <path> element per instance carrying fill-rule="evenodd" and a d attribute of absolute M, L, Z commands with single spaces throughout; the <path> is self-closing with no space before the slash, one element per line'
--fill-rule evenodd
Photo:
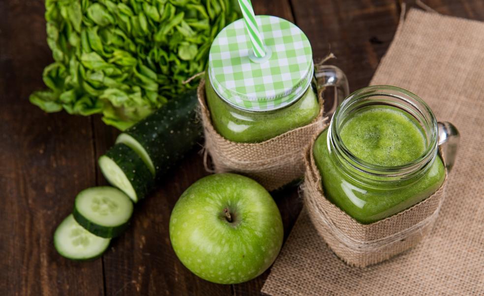
<path fill-rule="evenodd" d="M 427 0 L 436 11 L 484 20 L 482 0 Z M 398 0 L 253 0 L 257 14 L 295 22 L 314 58 L 331 50 L 350 89 L 370 81 L 400 14 Z M 413 3 L 408 6 L 415 6 Z M 140 204 L 132 224 L 92 262 L 60 257 L 52 234 L 84 188 L 103 185 L 96 159 L 119 133 L 100 117 L 46 114 L 28 97 L 44 87 L 44 1 L 0 1 L 0 295 L 259 295 L 269 270 L 238 285 L 216 285 L 189 272 L 170 245 L 168 221 L 181 193 L 207 175 L 193 149 Z M 274 195 L 285 234 L 301 210 L 296 189 Z"/>

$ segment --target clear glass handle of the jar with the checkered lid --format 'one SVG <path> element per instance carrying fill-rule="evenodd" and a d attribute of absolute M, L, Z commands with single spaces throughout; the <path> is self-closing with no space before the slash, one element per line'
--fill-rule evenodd
<path fill-rule="evenodd" d="M 340 68 L 332 65 L 316 65 L 314 78 L 316 79 L 319 98 L 322 98 L 322 92 L 326 87 L 333 86 L 335 88 L 333 106 L 325 112 L 326 116 L 331 117 L 336 111 L 336 107 L 350 94 L 348 79 Z"/>

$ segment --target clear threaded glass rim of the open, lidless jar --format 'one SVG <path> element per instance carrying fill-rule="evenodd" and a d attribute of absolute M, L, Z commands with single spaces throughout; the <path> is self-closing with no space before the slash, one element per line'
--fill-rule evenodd
<path fill-rule="evenodd" d="M 368 163 L 363 159 L 360 159 L 346 147 L 339 134 L 340 128 L 342 127 L 342 125 L 340 124 L 341 120 L 344 119 L 344 116 L 347 114 L 347 112 L 352 110 L 351 108 L 365 106 L 365 104 L 362 102 L 364 100 L 368 100 L 371 97 L 388 97 L 392 98 L 394 102 L 398 102 L 400 100 L 412 107 L 413 112 L 411 113 L 408 109 L 405 109 L 406 106 L 404 106 L 403 104 L 397 104 L 399 109 L 401 109 L 403 112 L 411 114 L 414 117 L 420 117 L 418 118 L 418 121 L 419 123 L 424 125 L 423 128 L 426 135 L 426 147 L 424 152 L 418 158 L 401 165 L 378 165 Z M 385 101 L 383 99 L 376 99 L 375 102 L 371 103 L 392 105 L 390 103 L 390 100 Z M 401 180 L 403 178 L 411 178 L 422 170 L 426 171 L 425 168 L 428 168 L 430 166 L 429 164 L 433 163 L 433 160 L 437 154 L 438 147 L 437 131 L 438 126 L 435 115 L 423 99 L 399 87 L 390 85 L 375 85 L 355 91 L 336 108 L 329 127 L 328 148 L 330 149 L 330 151 L 331 148 L 333 148 L 333 150 L 336 152 L 340 159 L 344 160 L 345 163 L 349 164 L 350 166 L 362 173 L 370 174 L 377 177 L 389 177 L 390 179 Z M 330 147 L 330 145 L 332 147 Z"/>

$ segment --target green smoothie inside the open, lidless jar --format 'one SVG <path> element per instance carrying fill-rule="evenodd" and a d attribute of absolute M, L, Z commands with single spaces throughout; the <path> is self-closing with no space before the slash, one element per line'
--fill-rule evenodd
<path fill-rule="evenodd" d="M 422 129 L 408 113 L 373 105 L 353 114 L 340 127 L 347 149 L 368 164 L 401 166 L 418 159 L 425 150 Z M 314 159 L 321 172 L 325 196 L 361 223 L 369 224 L 392 216 L 429 197 L 443 183 L 445 168 L 439 156 L 422 175 L 402 182 L 381 184 L 356 181 L 353 167 L 342 164 L 327 145 L 328 129 L 314 145 Z M 350 174 L 348 174 L 348 172 Z"/>

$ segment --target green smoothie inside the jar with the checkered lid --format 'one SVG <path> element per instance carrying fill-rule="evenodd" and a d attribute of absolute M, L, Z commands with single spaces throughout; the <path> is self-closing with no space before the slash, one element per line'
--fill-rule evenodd
<path fill-rule="evenodd" d="M 218 97 L 206 75 L 207 104 L 212 124 L 224 138 L 234 142 L 262 142 L 309 124 L 319 114 L 319 102 L 311 86 L 290 106 L 266 112 L 235 108 Z"/>

